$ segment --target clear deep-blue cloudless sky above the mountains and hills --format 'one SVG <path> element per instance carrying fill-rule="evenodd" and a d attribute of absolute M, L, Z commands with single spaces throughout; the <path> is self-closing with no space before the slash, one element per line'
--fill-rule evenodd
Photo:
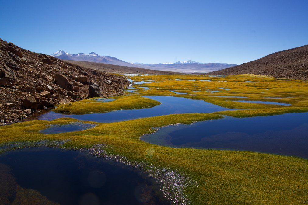
<path fill-rule="evenodd" d="M 0 3 L 0 38 L 45 54 L 242 64 L 308 44 L 308 0 Z"/>

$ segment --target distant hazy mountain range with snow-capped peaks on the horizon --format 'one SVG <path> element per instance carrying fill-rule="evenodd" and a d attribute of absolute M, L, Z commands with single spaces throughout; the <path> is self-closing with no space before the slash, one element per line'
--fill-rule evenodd
<path fill-rule="evenodd" d="M 157 64 L 149 64 L 149 63 L 132 63 L 125 62 L 118 58 L 111 56 L 104 56 L 96 54 L 95 52 L 91 52 L 89 54 L 78 53 L 78 54 L 70 54 L 65 52 L 64 50 L 59 50 L 51 56 L 55 58 L 59 58 L 62 60 L 73 60 L 73 61 L 88 61 L 88 62 L 98 62 L 105 63 L 111 65 L 118 66 L 129 66 L 129 67 L 138 67 L 138 68 L 146 68 L 152 70 L 165 70 L 165 71 L 174 71 L 174 72 L 185 72 L 185 73 L 194 73 L 194 72 L 211 72 L 215 70 L 221 70 L 224 68 L 229 68 L 232 66 L 236 66 L 236 64 L 228 64 L 228 63 L 201 63 L 195 62 L 192 60 L 188 61 L 178 61 L 175 63 L 157 63 Z"/>

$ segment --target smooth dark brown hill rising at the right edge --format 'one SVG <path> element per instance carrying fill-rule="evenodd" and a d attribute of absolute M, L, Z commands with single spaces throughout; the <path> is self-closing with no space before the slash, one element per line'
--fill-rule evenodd
<path fill-rule="evenodd" d="M 279 51 L 242 65 L 207 74 L 261 74 L 275 78 L 308 80 L 308 45 Z"/>

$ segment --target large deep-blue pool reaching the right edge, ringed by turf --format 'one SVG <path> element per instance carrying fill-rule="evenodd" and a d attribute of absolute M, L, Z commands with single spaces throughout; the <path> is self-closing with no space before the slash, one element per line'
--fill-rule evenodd
<path fill-rule="evenodd" d="M 232 118 L 160 128 L 140 139 L 163 146 L 246 150 L 308 158 L 308 113 Z"/>

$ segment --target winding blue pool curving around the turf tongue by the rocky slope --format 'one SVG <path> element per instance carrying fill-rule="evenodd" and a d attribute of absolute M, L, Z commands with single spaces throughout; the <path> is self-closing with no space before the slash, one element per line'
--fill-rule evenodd
<path fill-rule="evenodd" d="M 225 107 L 205 102 L 203 100 L 194 100 L 188 98 L 180 98 L 174 96 L 144 96 L 161 102 L 160 105 L 150 108 L 134 109 L 134 110 L 118 110 L 103 113 L 91 113 L 83 115 L 66 115 L 53 111 L 39 115 L 37 119 L 53 120 L 57 118 L 70 117 L 79 120 L 87 120 L 94 122 L 117 122 L 129 119 L 154 117 L 160 115 L 182 114 L 182 113 L 211 113 L 223 110 L 232 110 Z"/>

